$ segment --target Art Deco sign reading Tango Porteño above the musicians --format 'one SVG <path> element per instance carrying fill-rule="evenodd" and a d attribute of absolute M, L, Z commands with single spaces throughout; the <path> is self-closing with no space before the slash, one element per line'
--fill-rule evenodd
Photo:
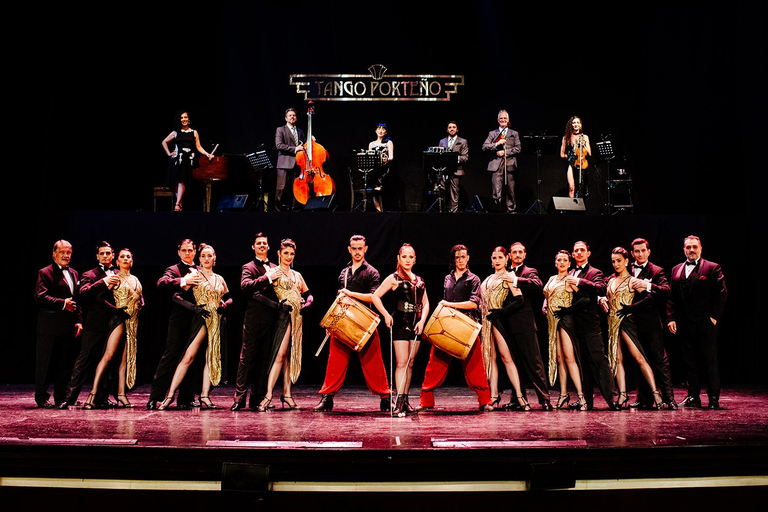
<path fill-rule="evenodd" d="M 387 75 L 374 64 L 368 75 L 291 75 L 289 83 L 314 101 L 451 101 L 463 75 Z"/>

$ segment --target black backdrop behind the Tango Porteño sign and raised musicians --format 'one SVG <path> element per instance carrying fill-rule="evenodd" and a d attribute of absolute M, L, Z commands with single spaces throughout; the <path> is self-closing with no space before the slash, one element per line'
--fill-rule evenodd
<path fill-rule="evenodd" d="M 6 325 L 29 317 L 26 298 L 55 238 L 83 240 L 76 266 L 84 270 L 93 252 L 88 244 L 111 235 L 92 227 L 102 216 L 113 218 L 99 212 L 151 210 L 151 189 L 163 183 L 167 164 L 160 141 L 178 109 L 190 112 L 207 149 L 219 144 L 222 153 L 242 154 L 263 145 L 274 157 L 274 130 L 285 108 L 296 107 L 299 124 L 306 123 L 290 74 L 365 73 L 374 63 L 393 74 L 461 74 L 465 85 L 449 103 L 318 104 L 313 128 L 331 155 L 327 170 L 337 182 L 339 208 L 349 207 L 350 155 L 374 138 L 378 122 L 389 125 L 395 142 L 398 195 L 390 207 L 418 211 L 425 206 L 421 152 L 444 136 L 449 119 L 470 143 L 464 194 L 487 197 L 479 147 L 500 108 L 523 136 L 559 137 L 566 120 L 579 115 L 593 142 L 614 143 L 612 166 L 631 172 L 636 214 L 697 219 L 677 236 L 688 225 L 727 216 L 705 240 L 705 257 L 720 244 L 716 254 L 730 263 L 727 275 L 737 266 L 745 276 L 757 272 L 756 259 L 740 262 L 736 246 L 744 239 L 759 246 L 764 232 L 762 3 L 586 2 L 577 14 L 511 2 L 243 4 L 10 9 L 18 35 L 8 46 L 5 80 L 13 142 L 6 146 L 6 240 L 22 264 L 9 273 L 14 293 L 3 298 Z M 544 149 L 539 166 L 545 200 L 564 187 L 556 146 Z M 537 166 L 526 139 L 523 152 L 518 181 L 525 210 L 535 198 Z M 588 204 L 599 213 L 607 168 L 595 164 L 598 196 Z M 253 186 L 222 184 L 215 194 L 252 193 Z M 187 209 L 199 209 L 201 201 L 202 186 L 194 184 Z M 79 224 L 69 224 L 73 219 Z M 142 244 L 140 227 L 121 229 L 126 245 Z M 548 236 L 563 236 L 558 233 Z M 322 262 L 334 272 L 337 263 Z M 732 294 L 729 308 L 745 311 L 755 298 Z M 739 319 L 746 339 L 757 336 L 754 316 Z M 13 341 L 29 354 L 33 323 L 22 327 Z M 8 362 L 2 374 L 24 380 L 31 369 Z"/>

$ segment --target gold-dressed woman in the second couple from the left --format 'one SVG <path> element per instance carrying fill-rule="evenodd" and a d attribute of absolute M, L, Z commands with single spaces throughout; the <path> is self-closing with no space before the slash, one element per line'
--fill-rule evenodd
<path fill-rule="evenodd" d="M 210 245 L 200 244 L 200 275 L 203 281 L 192 289 L 195 295 L 195 304 L 190 304 L 184 300 L 179 293 L 173 297 L 174 301 L 196 311 L 199 316 L 195 316 L 193 320 L 194 325 L 190 330 L 193 336 L 192 340 L 178 366 L 176 366 L 167 396 L 163 403 L 157 407 L 158 410 L 163 411 L 173 403 L 176 390 L 203 346 L 206 346 L 206 349 L 200 408 L 217 409 L 211 402 L 210 392 L 211 386 L 216 386 L 221 381 L 221 326 L 224 311 L 232 303 L 232 299 L 223 300 L 224 295 L 229 293 L 229 289 L 224 278 L 213 272 L 214 265 L 216 265 L 216 251 Z M 206 339 L 207 344 L 205 343 Z"/>

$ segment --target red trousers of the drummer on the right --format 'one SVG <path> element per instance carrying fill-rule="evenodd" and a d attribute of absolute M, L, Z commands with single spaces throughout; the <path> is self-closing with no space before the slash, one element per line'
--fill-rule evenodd
<path fill-rule="evenodd" d="M 480 343 L 475 343 L 466 359 L 461 361 L 464 366 L 464 378 L 467 379 L 469 388 L 477 393 L 479 405 L 491 403 L 491 389 L 488 387 L 488 379 L 485 376 L 485 366 L 483 365 L 483 354 L 480 350 Z M 456 359 L 447 352 L 432 345 L 432 352 L 429 354 L 427 371 L 424 373 L 424 382 L 421 385 L 421 406 L 434 407 L 435 395 L 433 391 L 440 387 L 448 375 L 448 367 L 451 361 Z"/>

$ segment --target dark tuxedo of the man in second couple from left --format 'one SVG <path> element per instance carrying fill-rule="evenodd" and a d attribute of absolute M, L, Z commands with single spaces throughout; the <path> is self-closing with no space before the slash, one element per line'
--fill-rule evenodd
<path fill-rule="evenodd" d="M 192 269 L 198 269 L 195 265 L 186 265 L 179 262 L 165 269 L 162 277 L 157 281 L 157 289 L 163 294 L 165 300 L 171 301 L 171 311 L 168 316 L 168 334 L 165 341 L 165 351 L 160 362 L 157 364 L 155 376 L 152 379 L 152 388 L 149 393 L 150 402 L 161 402 L 165 399 L 166 393 L 171 387 L 173 374 L 176 367 L 184 356 L 187 349 L 187 343 L 191 339 L 191 328 L 194 323 L 195 312 L 184 307 L 181 303 L 172 300 L 175 293 L 179 293 L 181 298 L 192 304 L 197 304 L 192 287 L 184 290 L 181 287 L 181 280 Z M 198 358 L 196 358 L 197 360 Z M 196 368 L 192 364 L 187 377 L 179 386 L 179 396 L 176 400 L 179 404 L 188 404 L 195 398 L 195 384 L 201 378 L 202 368 L 199 372 L 192 370 Z M 196 378 L 197 377 L 197 378 Z"/>

